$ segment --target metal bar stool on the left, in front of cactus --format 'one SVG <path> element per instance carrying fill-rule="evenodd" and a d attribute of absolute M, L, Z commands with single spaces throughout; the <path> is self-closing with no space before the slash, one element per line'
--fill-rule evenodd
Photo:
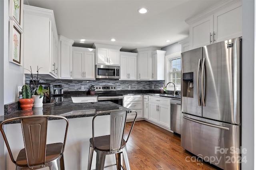
<path fill-rule="evenodd" d="M 48 119 L 64 119 L 66 131 L 63 143 L 46 145 Z M 25 148 L 20 150 L 16 160 L 8 144 L 3 125 L 10 121 L 20 120 Z M 50 170 L 64 170 L 63 152 L 68 131 L 68 119 L 56 115 L 31 115 L 7 119 L 0 123 L 0 131 L 4 137 L 7 150 L 16 170 L 36 170 L 49 166 Z"/>

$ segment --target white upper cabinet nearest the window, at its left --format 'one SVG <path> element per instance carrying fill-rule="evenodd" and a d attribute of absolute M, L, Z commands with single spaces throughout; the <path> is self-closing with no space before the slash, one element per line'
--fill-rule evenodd
<path fill-rule="evenodd" d="M 152 52 L 152 80 L 165 80 L 165 53 L 162 50 Z"/>

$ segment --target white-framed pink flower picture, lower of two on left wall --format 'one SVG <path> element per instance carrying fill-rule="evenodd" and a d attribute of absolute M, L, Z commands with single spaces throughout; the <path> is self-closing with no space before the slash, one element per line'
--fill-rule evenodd
<path fill-rule="evenodd" d="M 9 62 L 22 66 L 23 32 L 14 21 L 9 22 Z"/>

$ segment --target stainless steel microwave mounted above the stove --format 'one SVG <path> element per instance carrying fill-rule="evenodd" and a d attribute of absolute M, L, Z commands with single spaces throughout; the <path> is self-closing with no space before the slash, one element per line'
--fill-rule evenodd
<path fill-rule="evenodd" d="M 120 66 L 96 65 L 96 78 L 120 78 Z"/>

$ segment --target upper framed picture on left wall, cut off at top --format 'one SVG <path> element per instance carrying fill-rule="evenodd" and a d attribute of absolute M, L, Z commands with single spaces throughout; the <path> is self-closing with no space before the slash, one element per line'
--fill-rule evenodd
<path fill-rule="evenodd" d="M 9 17 L 22 29 L 23 0 L 9 0 Z"/>

